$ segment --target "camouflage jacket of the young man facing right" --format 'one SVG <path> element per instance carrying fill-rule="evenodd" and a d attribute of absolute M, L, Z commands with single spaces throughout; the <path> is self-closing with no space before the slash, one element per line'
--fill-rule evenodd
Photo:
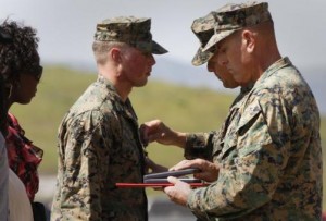
<path fill-rule="evenodd" d="M 145 151 L 137 116 L 103 76 L 90 85 L 59 128 L 59 171 L 51 220 L 147 220 Z"/>

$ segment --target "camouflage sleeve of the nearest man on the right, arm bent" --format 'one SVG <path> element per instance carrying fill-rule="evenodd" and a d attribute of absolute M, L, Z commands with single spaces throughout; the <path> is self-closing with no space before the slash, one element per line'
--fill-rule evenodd
<path fill-rule="evenodd" d="M 188 196 L 187 205 L 198 217 L 231 219 L 268 202 L 288 161 L 290 130 L 280 103 L 256 99 L 231 127 L 220 156 L 217 181 Z"/>

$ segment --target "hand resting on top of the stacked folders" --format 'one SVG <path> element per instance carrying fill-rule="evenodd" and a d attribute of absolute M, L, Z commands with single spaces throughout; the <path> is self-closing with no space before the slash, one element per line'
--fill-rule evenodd
<path fill-rule="evenodd" d="M 183 170 L 187 168 L 198 168 L 200 172 L 193 173 L 193 177 L 200 179 L 206 182 L 214 182 L 218 177 L 218 165 L 213 162 L 203 159 L 183 160 L 176 165 L 170 168 L 172 170 Z"/>

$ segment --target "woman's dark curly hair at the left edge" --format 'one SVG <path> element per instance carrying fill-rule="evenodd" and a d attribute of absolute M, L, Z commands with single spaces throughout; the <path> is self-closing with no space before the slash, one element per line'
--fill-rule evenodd
<path fill-rule="evenodd" d="M 15 21 L 4 21 L 1 27 L 12 37 L 12 42 L 0 47 L 0 74 L 4 81 L 18 78 L 22 73 L 33 73 L 39 67 L 36 29 Z"/>

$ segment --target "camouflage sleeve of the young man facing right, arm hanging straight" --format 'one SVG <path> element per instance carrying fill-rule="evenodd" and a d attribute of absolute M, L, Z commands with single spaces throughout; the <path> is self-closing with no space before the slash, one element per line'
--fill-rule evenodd
<path fill-rule="evenodd" d="M 101 220 L 111 124 L 101 113 L 89 111 L 75 119 L 66 131 L 61 192 L 63 220 Z"/>

